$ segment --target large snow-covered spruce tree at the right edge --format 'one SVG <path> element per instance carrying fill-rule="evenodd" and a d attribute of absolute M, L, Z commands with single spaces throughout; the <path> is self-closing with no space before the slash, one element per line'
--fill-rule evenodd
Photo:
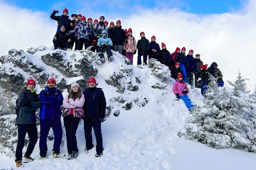
<path fill-rule="evenodd" d="M 215 149 L 241 147 L 256 152 L 256 130 L 251 119 L 255 113 L 244 117 L 252 105 L 244 105 L 243 99 L 219 89 L 213 76 L 205 95 L 203 104 L 197 105 L 186 120 L 185 133 L 179 135 Z"/>

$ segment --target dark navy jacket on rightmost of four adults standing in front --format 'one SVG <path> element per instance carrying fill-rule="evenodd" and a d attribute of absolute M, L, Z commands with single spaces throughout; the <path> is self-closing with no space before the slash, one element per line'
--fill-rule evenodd
<path fill-rule="evenodd" d="M 88 88 L 84 91 L 84 117 L 104 118 L 106 112 L 106 99 L 101 88 Z"/>

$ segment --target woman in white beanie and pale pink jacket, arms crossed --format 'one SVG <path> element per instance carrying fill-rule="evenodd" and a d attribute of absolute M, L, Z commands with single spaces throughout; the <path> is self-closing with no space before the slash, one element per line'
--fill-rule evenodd
<path fill-rule="evenodd" d="M 66 130 L 68 157 L 67 159 L 76 159 L 78 148 L 76 142 L 76 130 L 80 119 L 84 119 L 84 94 L 78 83 L 71 85 L 71 92 L 63 100 L 63 122 Z"/>

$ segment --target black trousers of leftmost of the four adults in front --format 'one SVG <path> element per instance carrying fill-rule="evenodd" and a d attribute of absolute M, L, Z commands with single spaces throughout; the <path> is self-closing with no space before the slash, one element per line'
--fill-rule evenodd
<path fill-rule="evenodd" d="M 29 143 L 24 156 L 30 156 L 35 148 L 35 144 L 37 143 L 37 126 L 35 124 L 18 125 L 18 142 L 15 151 L 15 162 L 17 160 L 22 160 L 22 150 L 24 148 L 24 142 L 27 133 L 29 137 Z"/>

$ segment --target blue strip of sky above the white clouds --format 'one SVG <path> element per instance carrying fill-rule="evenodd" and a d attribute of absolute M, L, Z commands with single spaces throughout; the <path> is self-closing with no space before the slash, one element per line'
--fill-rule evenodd
<path fill-rule="evenodd" d="M 140 9 L 179 9 L 184 12 L 195 14 L 221 14 L 238 11 L 242 9 L 247 0 L 108 0 L 102 1 L 81 1 L 81 0 L 14 0 L 6 1 L 10 5 L 26 8 L 32 11 L 44 11 L 51 14 L 54 9 L 62 11 L 65 7 L 71 13 L 82 13 L 91 15 L 102 13 L 102 15 L 131 15 Z M 83 2 L 83 3 L 81 3 Z M 103 12 L 104 11 L 104 12 Z M 89 17 L 89 16 L 87 16 Z"/>

